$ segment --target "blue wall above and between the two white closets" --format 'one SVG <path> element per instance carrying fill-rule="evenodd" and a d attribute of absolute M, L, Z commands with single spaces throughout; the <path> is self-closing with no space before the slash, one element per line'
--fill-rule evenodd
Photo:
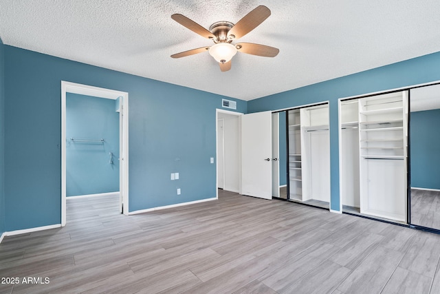
<path fill-rule="evenodd" d="M 440 52 L 437 52 L 255 99 L 248 102 L 248 112 L 276 110 L 329 101 L 331 209 L 339 211 L 338 98 L 439 81 L 439 68 Z"/>

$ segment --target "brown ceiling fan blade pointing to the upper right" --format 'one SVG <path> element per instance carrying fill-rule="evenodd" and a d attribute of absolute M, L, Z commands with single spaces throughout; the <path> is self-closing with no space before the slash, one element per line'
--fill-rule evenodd
<path fill-rule="evenodd" d="M 265 21 L 269 16 L 270 9 L 261 5 L 246 14 L 243 19 L 240 19 L 239 22 L 230 29 L 228 36 L 233 34 L 235 39 L 239 39 L 245 34 L 248 34 L 248 32 L 254 30 L 254 28 L 259 26 L 260 23 Z"/>

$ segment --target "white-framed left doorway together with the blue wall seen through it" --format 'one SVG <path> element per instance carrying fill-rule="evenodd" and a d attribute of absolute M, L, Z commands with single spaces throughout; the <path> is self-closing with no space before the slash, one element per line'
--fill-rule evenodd
<path fill-rule="evenodd" d="M 111 192 L 115 192 L 113 191 L 115 189 L 118 190 L 115 193 L 118 193 L 116 197 L 118 197 L 119 211 L 128 215 L 128 98 L 126 92 L 61 81 L 62 226 L 66 224 L 68 196 L 80 194 L 80 197 L 84 197 L 86 194 L 85 196 L 89 197 L 92 195 L 111 196 L 109 194 L 113 194 L 100 191 L 109 183 L 103 182 L 107 180 L 107 177 L 111 178 L 111 182 L 119 182 L 119 185 L 115 186 L 110 183 L 109 187 L 105 186 L 104 189 L 111 189 Z M 68 99 L 69 103 L 67 103 Z M 69 129 L 67 129 L 67 107 L 72 111 L 72 115 L 69 117 Z M 92 113 L 92 108 L 96 112 Z M 82 109 L 89 113 L 86 115 Z M 72 120 L 72 118 L 74 119 Z M 91 127 L 94 122 L 98 122 L 95 128 Z M 108 128 L 112 129 L 111 132 Z M 69 169 L 69 172 L 67 170 L 68 162 L 69 167 L 72 168 Z M 96 173 L 88 174 L 92 170 L 98 171 L 98 176 Z M 93 177 L 96 178 L 92 180 Z M 69 186 L 67 178 L 69 178 Z M 78 185 L 81 179 L 85 179 L 83 184 L 86 183 L 86 186 L 80 187 L 81 184 Z"/>

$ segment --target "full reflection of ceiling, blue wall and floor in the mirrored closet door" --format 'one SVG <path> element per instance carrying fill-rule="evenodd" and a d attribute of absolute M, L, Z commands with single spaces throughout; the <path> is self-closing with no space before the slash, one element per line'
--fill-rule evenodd
<path fill-rule="evenodd" d="M 411 224 L 440 229 L 440 85 L 410 90 Z"/>

